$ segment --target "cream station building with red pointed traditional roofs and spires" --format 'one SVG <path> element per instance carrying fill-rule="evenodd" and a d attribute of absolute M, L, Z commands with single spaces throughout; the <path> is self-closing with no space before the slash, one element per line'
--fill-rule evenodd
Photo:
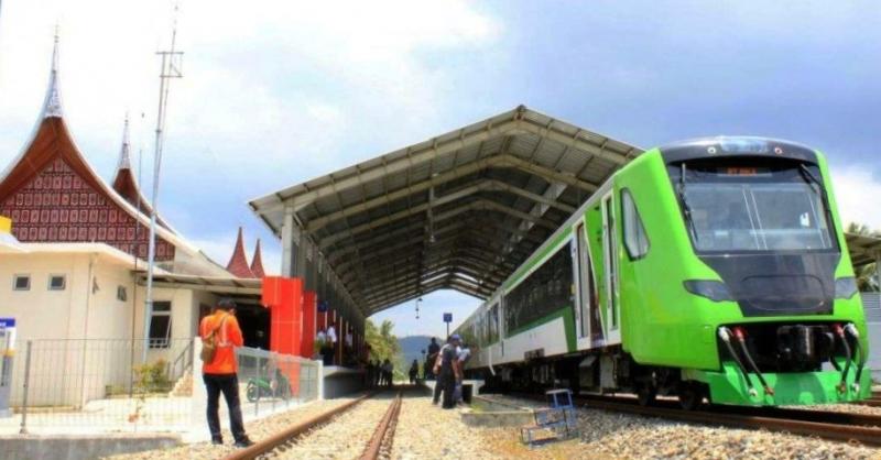
<path fill-rule="evenodd" d="M 192 342 L 200 317 L 230 296 L 241 304 L 247 344 L 268 348 L 262 258 L 258 244 L 253 263 L 241 269 L 241 231 L 224 266 L 159 217 L 154 302 L 145 318 L 152 209 L 132 173 L 128 121 L 112 180 L 105 182 L 68 130 L 57 57 L 56 41 L 36 125 L 0 173 L 0 316 L 17 319 L 20 347 L 40 339 L 133 343 L 146 331 L 150 361 L 173 361 L 187 352 L 174 343 Z"/>

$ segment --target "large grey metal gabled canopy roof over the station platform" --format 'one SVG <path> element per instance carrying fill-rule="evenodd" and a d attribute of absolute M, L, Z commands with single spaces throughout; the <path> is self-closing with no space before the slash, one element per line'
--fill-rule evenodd
<path fill-rule="evenodd" d="M 523 106 L 250 202 L 285 209 L 366 316 L 450 288 L 489 297 L 642 150 Z"/>

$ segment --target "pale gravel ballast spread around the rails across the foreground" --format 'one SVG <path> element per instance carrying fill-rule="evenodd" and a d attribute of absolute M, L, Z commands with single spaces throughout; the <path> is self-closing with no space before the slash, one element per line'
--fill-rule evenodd
<path fill-rule="evenodd" d="M 354 407 L 330 424 L 305 434 L 272 458 L 356 459 L 391 404 L 393 393 L 383 393 Z M 535 407 L 539 403 L 505 396 L 490 396 L 509 404 Z M 344 404 L 333 399 L 311 404 L 287 414 L 248 425 L 254 440 L 263 439 L 291 424 Z M 840 405 L 818 408 L 863 412 L 866 406 Z M 881 449 L 827 441 L 782 432 L 747 430 L 721 426 L 578 409 L 579 435 L 569 440 L 530 449 L 520 441 L 518 428 L 472 428 L 460 420 L 459 410 L 444 410 L 431 404 L 427 393 L 404 393 L 398 421 L 393 459 L 881 459 Z M 162 451 L 113 457 L 115 459 L 215 459 L 232 451 L 195 443 Z"/>

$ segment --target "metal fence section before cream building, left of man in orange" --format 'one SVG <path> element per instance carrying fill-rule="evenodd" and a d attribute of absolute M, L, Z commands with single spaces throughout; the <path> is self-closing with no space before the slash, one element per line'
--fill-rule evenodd
<path fill-rule="evenodd" d="M 193 340 L 28 340 L 19 353 L 12 405 L 21 431 L 139 430 L 188 425 Z"/>

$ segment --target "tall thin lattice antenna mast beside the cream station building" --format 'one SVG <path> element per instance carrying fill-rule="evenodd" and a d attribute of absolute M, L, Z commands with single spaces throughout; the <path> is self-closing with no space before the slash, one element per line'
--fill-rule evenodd
<path fill-rule="evenodd" d="M 159 75 L 159 113 L 156 116 L 155 151 L 153 153 L 153 196 L 151 198 L 150 238 L 148 241 L 146 264 L 146 296 L 144 299 L 144 349 L 143 362 L 146 363 L 146 353 L 150 349 L 150 320 L 153 316 L 153 270 L 156 258 L 156 212 L 159 209 L 159 178 L 162 166 L 162 147 L 165 130 L 165 111 L 168 106 L 168 89 L 172 78 L 183 77 L 182 68 L 184 53 L 175 50 L 177 39 L 177 3 L 174 6 L 174 22 L 172 25 L 172 45 L 170 51 L 156 54 L 162 57 L 162 72 Z"/>

